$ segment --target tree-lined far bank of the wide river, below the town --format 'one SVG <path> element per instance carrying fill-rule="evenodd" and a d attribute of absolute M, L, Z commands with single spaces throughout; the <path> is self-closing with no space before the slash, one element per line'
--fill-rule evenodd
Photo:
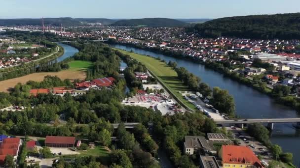
<path fill-rule="evenodd" d="M 272 94 L 272 89 L 266 87 L 266 85 L 262 83 L 256 83 L 250 80 L 249 78 L 246 78 L 244 75 L 239 75 L 235 72 L 232 72 L 228 68 L 225 68 L 222 63 L 216 62 L 216 61 L 202 61 L 200 59 L 196 59 L 190 56 L 183 56 L 179 53 L 174 53 L 171 51 L 161 50 L 160 48 L 148 48 L 145 46 L 135 45 L 135 44 L 123 44 L 123 43 L 115 43 L 120 44 L 123 46 L 129 46 L 129 47 L 135 47 L 142 50 L 147 50 L 153 53 L 162 54 L 166 56 L 171 56 L 178 59 L 184 59 L 188 61 L 193 61 L 199 64 L 204 65 L 206 68 L 209 68 L 211 70 L 214 70 L 218 73 L 221 73 L 225 78 L 229 78 L 231 80 L 237 81 L 240 84 L 245 84 L 248 87 L 251 87 L 269 97 L 274 99 L 278 104 L 282 104 L 287 107 L 292 107 L 297 111 L 300 111 L 300 100 L 293 96 L 279 96 Z"/>

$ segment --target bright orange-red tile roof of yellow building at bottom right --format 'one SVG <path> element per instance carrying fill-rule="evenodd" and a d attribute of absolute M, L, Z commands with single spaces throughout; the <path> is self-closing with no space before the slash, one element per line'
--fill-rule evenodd
<path fill-rule="evenodd" d="M 222 160 L 223 164 L 251 164 L 263 168 L 261 161 L 247 146 L 223 145 Z"/>

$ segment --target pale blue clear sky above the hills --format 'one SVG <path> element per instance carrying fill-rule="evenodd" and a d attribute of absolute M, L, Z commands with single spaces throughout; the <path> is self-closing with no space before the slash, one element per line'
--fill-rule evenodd
<path fill-rule="evenodd" d="M 300 0 L 0 0 L 0 18 L 222 18 L 300 12 Z"/>

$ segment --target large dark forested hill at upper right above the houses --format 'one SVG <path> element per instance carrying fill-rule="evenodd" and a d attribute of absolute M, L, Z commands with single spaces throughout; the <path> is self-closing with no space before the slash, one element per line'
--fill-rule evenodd
<path fill-rule="evenodd" d="M 214 19 L 193 28 L 203 37 L 300 39 L 300 13 Z"/>

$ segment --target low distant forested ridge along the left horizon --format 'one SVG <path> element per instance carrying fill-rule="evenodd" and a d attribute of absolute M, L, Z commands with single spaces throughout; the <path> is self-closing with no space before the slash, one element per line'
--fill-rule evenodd
<path fill-rule="evenodd" d="M 114 20 L 110 19 L 73 19 L 73 18 L 44 18 L 44 25 L 51 25 L 51 26 L 60 26 L 63 24 L 64 27 L 69 26 L 80 26 L 85 25 L 87 23 L 96 23 L 100 22 L 104 25 L 109 25 L 114 22 Z M 0 19 L 0 26 L 24 26 L 24 25 L 41 25 L 42 20 L 41 18 L 38 19 Z"/>

